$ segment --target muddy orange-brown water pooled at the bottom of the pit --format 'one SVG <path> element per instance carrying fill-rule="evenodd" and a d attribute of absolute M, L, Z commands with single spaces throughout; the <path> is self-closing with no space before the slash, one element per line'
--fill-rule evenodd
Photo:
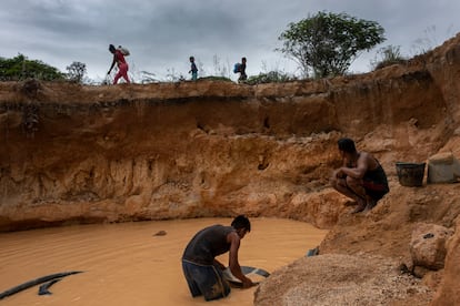
<path fill-rule="evenodd" d="M 0 293 L 28 280 L 83 271 L 39 296 L 39 286 L 0 300 L 1 305 L 253 305 L 256 287 L 232 288 L 216 302 L 192 298 L 181 255 L 192 235 L 231 218 L 197 218 L 106 225 L 78 225 L 0 234 Z M 269 272 L 307 254 L 327 231 L 282 218 L 251 218 L 241 242 L 241 265 Z M 154 235 L 164 231 L 166 235 Z M 228 265 L 228 255 L 218 258 Z M 260 279 L 253 279 L 260 280 Z M 263 280 L 263 279 L 262 279 Z"/>

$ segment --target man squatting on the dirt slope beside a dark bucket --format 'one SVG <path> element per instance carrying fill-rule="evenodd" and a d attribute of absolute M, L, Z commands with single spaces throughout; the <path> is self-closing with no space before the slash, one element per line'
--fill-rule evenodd
<path fill-rule="evenodd" d="M 390 191 L 387 174 L 370 153 L 358 152 L 351 139 L 340 139 L 338 145 L 343 165 L 333 172 L 331 185 L 358 203 L 351 213 L 368 212 Z"/>

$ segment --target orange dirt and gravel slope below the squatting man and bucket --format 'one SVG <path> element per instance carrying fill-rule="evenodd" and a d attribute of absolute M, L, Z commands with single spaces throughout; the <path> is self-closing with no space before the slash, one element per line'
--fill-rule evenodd
<path fill-rule="evenodd" d="M 388 197 L 369 213 L 341 215 L 321 243 L 320 255 L 274 272 L 258 288 L 254 304 L 432 305 L 444 286 L 451 299 L 434 305 L 456 305 L 457 276 L 446 272 L 458 264 L 458 236 L 449 241 L 446 269 L 418 274 L 410 245 L 420 223 L 458 226 L 459 191 L 460 184 L 403 187 L 393 183 Z"/>

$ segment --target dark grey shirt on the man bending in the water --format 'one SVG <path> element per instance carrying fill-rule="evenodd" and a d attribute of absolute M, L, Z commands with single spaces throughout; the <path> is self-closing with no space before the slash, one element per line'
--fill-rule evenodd
<path fill-rule="evenodd" d="M 189 242 L 182 259 L 201 265 L 212 265 L 214 257 L 229 252 L 227 235 L 233 232 L 232 226 L 212 225 L 198 232 Z"/>

